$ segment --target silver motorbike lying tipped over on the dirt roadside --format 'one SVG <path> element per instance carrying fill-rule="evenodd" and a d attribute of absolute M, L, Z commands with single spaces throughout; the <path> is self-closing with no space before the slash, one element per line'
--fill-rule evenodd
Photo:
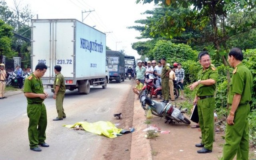
<path fill-rule="evenodd" d="M 186 118 L 183 115 L 183 113 L 188 112 L 188 109 L 187 108 L 181 109 L 182 106 L 180 106 L 180 108 L 176 108 L 177 106 L 172 105 L 171 103 L 165 104 L 164 102 L 157 102 L 147 97 L 145 95 L 145 92 L 140 96 L 140 103 L 144 110 L 151 109 L 152 114 L 166 119 L 164 123 L 169 123 L 169 124 L 170 123 L 174 124 L 175 122 L 178 122 L 178 123 L 182 122 L 185 124 L 191 123 L 190 120 L 188 120 L 188 118 Z"/>

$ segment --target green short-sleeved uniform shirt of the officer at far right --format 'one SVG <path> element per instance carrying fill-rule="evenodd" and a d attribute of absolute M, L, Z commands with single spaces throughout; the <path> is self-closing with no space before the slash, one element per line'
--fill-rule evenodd
<path fill-rule="evenodd" d="M 234 94 L 241 95 L 239 104 L 246 104 L 252 100 L 252 79 L 252 73 L 244 64 L 236 66 L 230 82 L 228 104 L 232 104 Z"/>

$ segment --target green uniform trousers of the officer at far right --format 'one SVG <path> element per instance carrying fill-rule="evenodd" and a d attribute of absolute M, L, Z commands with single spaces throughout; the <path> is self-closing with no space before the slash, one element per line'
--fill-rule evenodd
<path fill-rule="evenodd" d="M 226 124 L 226 143 L 223 147 L 221 160 L 248 160 L 249 156 L 249 104 L 239 105 L 234 116 L 234 124 Z"/>

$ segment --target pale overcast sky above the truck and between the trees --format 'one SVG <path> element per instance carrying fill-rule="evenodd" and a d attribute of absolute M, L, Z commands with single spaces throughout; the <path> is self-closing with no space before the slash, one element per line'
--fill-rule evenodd
<path fill-rule="evenodd" d="M 135 20 L 146 18 L 141 13 L 152 10 L 154 4 L 136 4 L 136 0 L 16 0 L 21 6 L 30 4 L 32 13 L 39 19 L 74 18 L 82 21 L 82 10 L 95 10 L 88 15 L 84 13 L 84 23 L 95 26 L 106 33 L 106 45 L 111 50 L 124 50 L 127 55 L 139 58 L 132 43 L 139 40 L 140 32 L 127 29 L 137 25 Z M 6 0 L 10 8 L 14 8 L 13 0 Z M 110 33 L 107 33 L 110 32 Z"/>

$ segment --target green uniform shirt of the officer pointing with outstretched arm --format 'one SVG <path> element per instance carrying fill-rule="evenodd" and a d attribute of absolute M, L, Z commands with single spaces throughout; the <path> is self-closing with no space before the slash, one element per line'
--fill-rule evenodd
<path fill-rule="evenodd" d="M 218 71 L 214 67 L 210 66 L 207 70 L 204 70 L 204 69 L 200 70 L 198 72 L 198 80 L 213 79 L 215 80 L 216 83 L 210 86 L 199 84 L 197 87 L 198 89 L 196 92 L 196 96 L 214 96 L 218 77 L 219 77 Z"/>

